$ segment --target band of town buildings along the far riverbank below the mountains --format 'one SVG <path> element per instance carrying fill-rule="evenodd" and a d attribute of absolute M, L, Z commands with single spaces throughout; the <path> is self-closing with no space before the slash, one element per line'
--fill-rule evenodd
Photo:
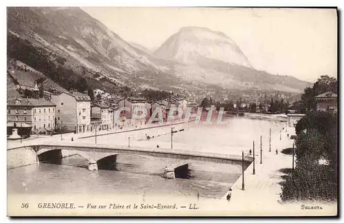
<path fill-rule="evenodd" d="M 105 78 L 98 75 L 97 78 Z M 10 59 L 8 61 L 8 134 L 10 129 L 21 123 L 23 134 L 58 134 L 74 132 L 76 134 L 89 131 L 109 131 L 125 126 L 142 127 L 146 125 L 155 109 L 161 109 L 164 122 L 171 107 L 180 107 L 183 112 L 187 108 L 224 107 L 228 114 L 252 112 L 263 114 L 299 112 L 297 102 L 290 103 L 283 94 L 270 95 L 242 93 L 240 98 L 233 101 L 235 96 L 227 96 L 224 91 L 222 100 L 212 96 L 195 94 L 182 96 L 180 93 L 136 89 L 125 87 L 116 94 L 105 92 L 103 89 L 65 89 L 50 78 L 34 70 L 32 67 Z M 231 98 L 230 98 L 231 97 Z M 274 99 L 275 98 L 275 99 Z M 285 101 L 284 101 L 285 100 Z M 274 103 L 275 101 L 275 103 Z M 115 120 L 115 114 L 121 107 L 129 107 L 130 112 L 121 111 L 121 125 Z M 134 108 L 147 109 L 147 115 L 142 120 L 131 119 Z M 13 110 L 13 111 L 12 111 Z M 11 115 L 10 115 L 11 114 Z M 12 115 L 13 114 L 13 115 Z M 30 114 L 30 116 L 29 116 Z M 26 130 L 24 130 L 26 128 Z M 29 130 L 30 129 L 30 130 Z M 24 134 L 24 135 L 25 135 Z"/>

